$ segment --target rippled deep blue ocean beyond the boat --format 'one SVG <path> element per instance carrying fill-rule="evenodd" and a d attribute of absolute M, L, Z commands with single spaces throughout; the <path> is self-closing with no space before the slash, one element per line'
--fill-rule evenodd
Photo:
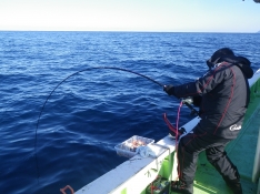
<path fill-rule="evenodd" d="M 81 188 L 127 160 L 118 143 L 168 135 L 180 100 L 157 82 L 193 81 L 223 47 L 256 72 L 259 45 L 259 33 L 1 31 L 0 193 Z M 182 106 L 179 125 L 192 118 Z"/>

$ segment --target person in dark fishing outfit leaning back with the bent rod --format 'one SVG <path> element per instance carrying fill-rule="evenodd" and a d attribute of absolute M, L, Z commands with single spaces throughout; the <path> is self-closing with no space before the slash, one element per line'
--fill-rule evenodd
<path fill-rule="evenodd" d="M 228 157 L 224 146 L 241 130 L 250 99 L 248 79 L 252 78 L 253 70 L 247 58 L 234 55 L 229 48 L 217 50 L 207 64 L 209 71 L 198 80 L 163 86 L 169 95 L 193 98 L 201 118 L 193 133 L 187 134 L 179 142 L 179 181 L 171 182 L 171 191 L 193 193 L 198 155 L 206 151 L 208 161 L 232 192 L 242 194 L 238 169 Z"/>

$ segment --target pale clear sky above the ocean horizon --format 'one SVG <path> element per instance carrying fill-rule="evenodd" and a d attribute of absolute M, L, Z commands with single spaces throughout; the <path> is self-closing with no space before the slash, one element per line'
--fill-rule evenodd
<path fill-rule="evenodd" d="M 253 0 L 0 0 L 0 30 L 257 32 Z"/>

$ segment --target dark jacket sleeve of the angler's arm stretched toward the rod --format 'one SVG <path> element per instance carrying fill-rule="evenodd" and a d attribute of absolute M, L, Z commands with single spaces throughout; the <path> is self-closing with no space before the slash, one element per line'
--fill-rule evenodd
<path fill-rule="evenodd" d="M 194 82 L 174 86 L 174 95 L 177 98 L 186 98 L 206 94 L 212 91 L 219 83 L 224 80 L 224 74 L 226 69 L 217 68 L 211 70 Z"/>

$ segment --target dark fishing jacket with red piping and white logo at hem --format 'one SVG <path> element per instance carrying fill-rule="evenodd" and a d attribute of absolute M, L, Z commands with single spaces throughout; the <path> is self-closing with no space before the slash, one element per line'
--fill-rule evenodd
<path fill-rule="evenodd" d="M 198 132 L 234 139 L 241 130 L 249 104 L 248 79 L 252 75 L 253 71 L 248 59 L 221 58 L 202 78 L 174 86 L 174 95 L 197 96 L 194 99 L 199 104 L 201 118 L 196 127 Z"/>

